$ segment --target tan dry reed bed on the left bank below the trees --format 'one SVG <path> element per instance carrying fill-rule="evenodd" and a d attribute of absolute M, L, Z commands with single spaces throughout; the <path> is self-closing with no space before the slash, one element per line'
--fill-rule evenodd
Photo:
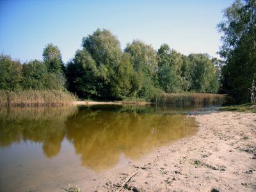
<path fill-rule="evenodd" d="M 0 90 L 1 107 L 68 106 L 76 95 L 63 90 Z"/>

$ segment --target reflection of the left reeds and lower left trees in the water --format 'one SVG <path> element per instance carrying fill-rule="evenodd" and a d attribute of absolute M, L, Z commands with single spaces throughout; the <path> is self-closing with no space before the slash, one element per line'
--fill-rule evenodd
<path fill-rule="evenodd" d="M 21 141 L 43 143 L 45 156 L 54 157 L 65 137 L 65 120 L 76 111 L 74 107 L 1 109 L 0 147 Z"/>

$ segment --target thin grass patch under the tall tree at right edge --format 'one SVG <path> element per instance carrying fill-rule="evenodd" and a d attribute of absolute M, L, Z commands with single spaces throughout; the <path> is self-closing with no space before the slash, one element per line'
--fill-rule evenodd
<path fill-rule="evenodd" d="M 246 112 L 246 113 L 256 113 L 256 103 L 225 106 L 223 108 L 220 108 L 220 111 L 237 111 L 237 112 Z"/>

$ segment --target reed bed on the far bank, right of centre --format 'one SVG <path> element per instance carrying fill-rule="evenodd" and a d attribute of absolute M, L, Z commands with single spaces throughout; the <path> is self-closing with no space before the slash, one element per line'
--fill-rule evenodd
<path fill-rule="evenodd" d="M 161 93 L 152 101 L 157 104 L 221 105 L 225 101 L 225 95 L 211 93 Z"/>

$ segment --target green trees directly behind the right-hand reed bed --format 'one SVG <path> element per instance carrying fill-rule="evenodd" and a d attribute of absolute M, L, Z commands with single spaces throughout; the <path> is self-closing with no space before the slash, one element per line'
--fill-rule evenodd
<path fill-rule="evenodd" d="M 184 56 L 166 44 L 161 45 L 157 54 L 158 79 L 164 92 L 218 92 L 217 68 L 207 54 Z"/>

